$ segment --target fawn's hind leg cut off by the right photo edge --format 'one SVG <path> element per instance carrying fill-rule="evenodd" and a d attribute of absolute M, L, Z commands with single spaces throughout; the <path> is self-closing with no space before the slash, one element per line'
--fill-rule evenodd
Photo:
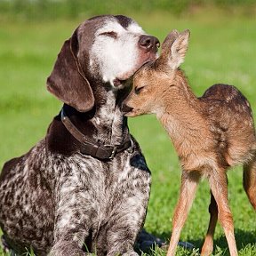
<path fill-rule="evenodd" d="M 256 210 L 256 156 L 249 164 L 244 164 L 244 190 Z"/>

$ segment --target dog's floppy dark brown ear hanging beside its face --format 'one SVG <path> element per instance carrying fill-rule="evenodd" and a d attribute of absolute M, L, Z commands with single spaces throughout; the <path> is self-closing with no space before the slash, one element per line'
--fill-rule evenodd
<path fill-rule="evenodd" d="M 79 46 L 76 34 L 77 29 L 63 44 L 52 74 L 47 79 L 47 89 L 69 106 L 86 112 L 93 108 L 94 96 L 77 60 Z"/>

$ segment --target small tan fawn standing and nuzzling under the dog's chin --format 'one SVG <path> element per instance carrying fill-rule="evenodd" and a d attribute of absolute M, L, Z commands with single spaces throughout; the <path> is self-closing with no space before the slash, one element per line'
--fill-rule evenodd
<path fill-rule="evenodd" d="M 256 209 L 256 139 L 252 110 L 234 86 L 212 85 L 196 98 L 179 68 L 188 49 L 189 30 L 173 30 L 164 40 L 161 56 L 133 77 L 125 116 L 155 113 L 176 148 L 182 167 L 180 198 L 172 219 L 168 256 L 175 255 L 181 229 L 201 177 L 209 180 L 211 214 L 202 255 L 213 250 L 217 219 L 224 229 L 231 256 L 237 255 L 232 215 L 228 206 L 226 172 L 244 164 L 244 189 Z"/>

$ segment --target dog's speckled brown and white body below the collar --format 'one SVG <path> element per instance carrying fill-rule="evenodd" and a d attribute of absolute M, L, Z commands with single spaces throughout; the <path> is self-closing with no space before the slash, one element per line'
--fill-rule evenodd
<path fill-rule="evenodd" d="M 150 189 L 150 172 L 138 148 L 104 163 L 80 153 L 52 154 L 42 140 L 16 159 L 4 165 L 7 172 L 19 160 L 0 187 L 1 226 L 13 250 L 32 245 L 46 255 L 54 244 L 52 255 L 76 255 L 76 250 L 84 255 L 85 237 L 97 255 L 132 250 Z"/>

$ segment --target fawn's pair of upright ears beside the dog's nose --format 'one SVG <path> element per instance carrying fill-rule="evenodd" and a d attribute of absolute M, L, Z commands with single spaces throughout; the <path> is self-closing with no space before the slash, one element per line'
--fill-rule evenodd
<path fill-rule="evenodd" d="M 180 67 L 188 50 L 189 30 L 179 33 L 177 30 L 166 36 L 162 44 L 161 55 L 158 58 L 157 66 L 160 69 L 174 70 Z"/>

